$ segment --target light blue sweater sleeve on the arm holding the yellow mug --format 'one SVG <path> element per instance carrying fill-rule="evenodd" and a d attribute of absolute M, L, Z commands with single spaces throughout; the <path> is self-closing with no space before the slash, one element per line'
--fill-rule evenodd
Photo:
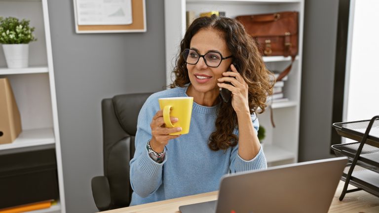
<path fill-rule="evenodd" d="M 130 183 L 133 191 L 141 197 L 149 196 L 162 184 L 162 167 L 167 160 L 166 155 L 162 163 L 155 162 L 146 148 L 147 142 L 152 138 L 150 123 L 157 110 L 159 106 L 149 98 L 138 115 L 136 150 L 130 161 Z"/>

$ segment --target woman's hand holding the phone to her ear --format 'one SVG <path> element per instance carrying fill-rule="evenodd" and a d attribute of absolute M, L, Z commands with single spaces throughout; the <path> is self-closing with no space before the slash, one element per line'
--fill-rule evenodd
<path fill-rule="evenodd" d="M 250 114 L 248 101 L 249 86 L 242 75 L 235 69 L 234 65 L 230 65 L 230 70 L 223 72 L 224 77 L 218 79 L 220 83 L 217 85 L 231 92 L 231 106 L 233 106 L 236 113 L 247 112 Z M 231 85 L 225 82 L 230 82 Z"/>

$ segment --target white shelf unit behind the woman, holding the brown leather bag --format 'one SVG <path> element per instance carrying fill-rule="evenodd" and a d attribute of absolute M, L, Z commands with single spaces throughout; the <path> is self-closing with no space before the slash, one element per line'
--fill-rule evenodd
<path fill-rule="evenodd" d="M 295 163 L 298 161 L 300 94 L 303 52 L 304 0 L 165 0 L 165 48 L 166 83 L 170 84 L 171 71 L 179 44 L 186 32 L 186 11 L 224 11 L 226 16 L 273 13 L 279 11 L 299 12 L 299 53 L 285 81 L 283 92 L 286 102 L 272 103 L 271 110 L 276 127 L 270 122 L 270 109 L 258 114 L 260 125 L 266 129 L 265 155 L 268 166 Z M 168 15 L 169 14 L 169 15 Z M 178 30 L 179 29 L 179 30 Z M 284 70 L 291 57 L 263 57 L 269 70 Z"/>

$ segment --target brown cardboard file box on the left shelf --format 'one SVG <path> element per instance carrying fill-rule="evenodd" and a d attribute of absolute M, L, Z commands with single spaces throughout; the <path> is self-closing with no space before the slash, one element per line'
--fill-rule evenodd
<path fill-rule="evenodd" d="M 0 78 L 0 144 L 13 142 L 21 133 L 21 117 L 8 78 Z"/>

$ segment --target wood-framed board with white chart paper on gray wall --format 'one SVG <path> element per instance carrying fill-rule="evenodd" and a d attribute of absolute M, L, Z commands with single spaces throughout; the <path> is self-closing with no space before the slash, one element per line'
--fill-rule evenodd
<path fill-rule="evenodd" d="M 77 34 L 146 32 L 145 0 L 74 0 L 74 14 Z"/>

